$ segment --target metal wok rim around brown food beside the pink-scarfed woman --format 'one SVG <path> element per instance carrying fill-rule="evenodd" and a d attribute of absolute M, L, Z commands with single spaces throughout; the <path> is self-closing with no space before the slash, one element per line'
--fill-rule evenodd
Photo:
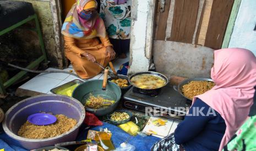
<path fill-rule="evenodd" d="M 179 92 L 179 94 L 181 94 L 182 96 L 184 96 L 183 92 L 182 92 L 182 86 L 185 84 L 188 84 L 189 82 L 192 81 L 207 81 L 207 82 L 214 82 L 213 79 L 208 79 L 208 78 L 188 78 L 183 80 L 181 83 L 178 84 L 178 86 L 173 85 L 173 89 L 175 89 L 177 92 Z M 186 97 L 186 96 L 184 96 Z M 188 100 L 191 100 L 190 98 L 186 97 Z"/>

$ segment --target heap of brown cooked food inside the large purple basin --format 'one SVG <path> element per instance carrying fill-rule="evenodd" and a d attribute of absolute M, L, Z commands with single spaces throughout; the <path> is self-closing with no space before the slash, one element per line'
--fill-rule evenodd
<path fill-rule="evenodd" d="M 20 127 L 18 135 L 31 139 L 50 138 L 69 131 L 77 124 L 77 120 L 68 118 L 63 114 L 57 114 L 55 117 L 57 118 L 57 121 L 51 125 L 40 126 L 26 121 L 26 123 Z"/>

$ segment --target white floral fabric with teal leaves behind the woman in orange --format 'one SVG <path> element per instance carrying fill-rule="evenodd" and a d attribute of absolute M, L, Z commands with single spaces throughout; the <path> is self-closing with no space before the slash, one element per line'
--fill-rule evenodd
<path fill-rule="evenodd" d="M 132 0 L 116 4 L 115 0 L 101 0 L 100 16 L 104 20 L 108 37 L 130 39 L 130 5 Z"/>

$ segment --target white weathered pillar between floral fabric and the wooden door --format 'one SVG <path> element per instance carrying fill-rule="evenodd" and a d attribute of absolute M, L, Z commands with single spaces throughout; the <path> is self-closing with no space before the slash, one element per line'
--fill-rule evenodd
<path fill-rule="evenodd" d="M 130 73 L 148 71 L 154 25 L 155 0 L 132 1 L 130 33 Z"/>

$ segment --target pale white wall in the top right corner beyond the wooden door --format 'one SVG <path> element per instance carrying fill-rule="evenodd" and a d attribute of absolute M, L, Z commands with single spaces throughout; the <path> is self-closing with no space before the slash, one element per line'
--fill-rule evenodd
<path fill-rule="evenodd" d="M 256 0 L 242 0 L 228 48 L 246 48 L 256 55 Z"/>

